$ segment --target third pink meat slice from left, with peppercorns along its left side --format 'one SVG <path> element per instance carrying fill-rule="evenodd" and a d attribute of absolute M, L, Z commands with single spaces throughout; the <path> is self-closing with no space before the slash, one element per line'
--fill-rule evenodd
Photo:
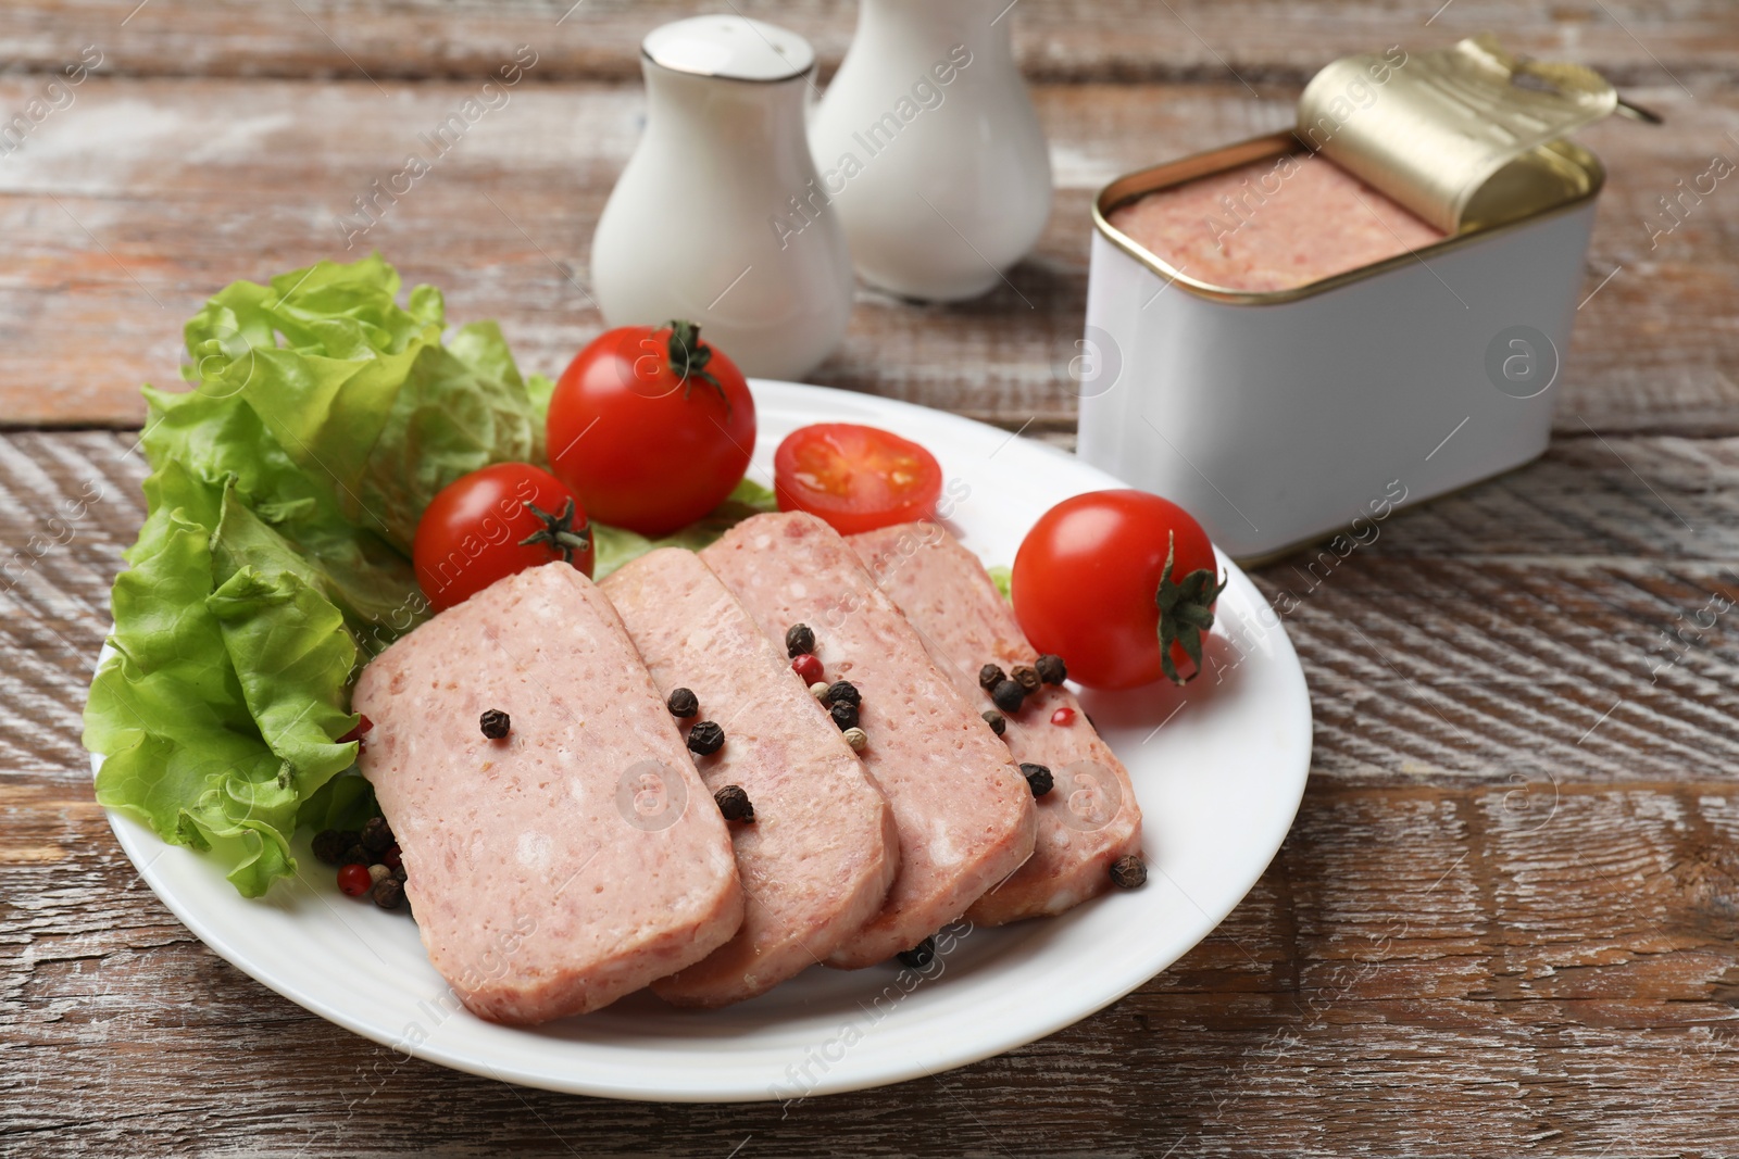
<path fill-rule="evenodd" d="M 807 624 L 826 678 L 863 693 L 861 756 L 894 810 L 901 865 L 887 904 L 830 966 L 871 966 L 915 947 L 1031 857 L 1036 810 L 1007 745 L 936 671 L 831 527 L 802 513 L 760 514 L 701 558 L 776 646 Z"/>

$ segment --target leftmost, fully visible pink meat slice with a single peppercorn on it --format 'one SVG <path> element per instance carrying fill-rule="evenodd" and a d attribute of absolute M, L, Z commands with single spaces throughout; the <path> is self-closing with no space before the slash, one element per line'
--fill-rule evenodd
<path fill-rule="evenodd" d="M 725 822 L 610 601 L 569 565 L 417 627 L 363 669 L 355 709 L 423 945 L 478 1017 L 598 1010 L 743 924 Z M 489 709 L 506 738 L 483 737 Z"/>

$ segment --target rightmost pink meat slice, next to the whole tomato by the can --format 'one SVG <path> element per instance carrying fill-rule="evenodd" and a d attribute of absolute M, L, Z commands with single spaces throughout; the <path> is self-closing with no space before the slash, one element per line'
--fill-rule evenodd
<path fill-rule="evenodd" d="M 936 667 L 979 711 L 995 707 L 977 683 L 983 666 L 1012 672 L 1038 659 L 984 565 L 939 525 L 889 527 L 849 542 L 923 638 Z M 1052 723 L 1057 709 L 1069 709 L 1068 723 Z M 1111 888 L 1111 862 L 1141 853 L 1141 806 L 1129 772 L 1075 693 L 1042 685 L 1007 721 L 1009 752 L 1047 766 L 1056 787 L 1038 801 L 1031 860 L 967 911 L 981 926 L 1080 905 Z"/>

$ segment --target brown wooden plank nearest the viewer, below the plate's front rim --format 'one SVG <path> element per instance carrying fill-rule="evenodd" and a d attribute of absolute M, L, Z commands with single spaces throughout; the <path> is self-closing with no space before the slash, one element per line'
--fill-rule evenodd
<path fill-rule="evenodd" d="M 1544 815 L 1513 792 L 1316 780 L 1243 905 L 1109 1010 L 897 1088 L 725 1109 L 350 1036 L 191 940 L 87 799 L 9 777 L 0 1150 L 1725 1154 L 1732 782 L 1579 785 Z"/>

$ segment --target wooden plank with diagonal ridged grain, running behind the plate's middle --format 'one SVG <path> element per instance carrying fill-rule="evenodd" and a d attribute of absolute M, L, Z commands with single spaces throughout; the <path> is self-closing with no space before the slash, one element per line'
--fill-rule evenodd
<path fill-rule="evenodd" d="M 0 768 L 85 777 L 78 712 L 108 587 L 143 520 L 132 443 L 0 440 L 0 700 L 21 707 L 0 719 Z M 1739 440 L 1570 438 L 1532 467 L 1391 516 L 1344 558 L 1323 549 L 1259 570 L 1311 686 L 1316 775 L 1730 775 L 1739 622 L 1720 601 L 1739 601 L 1736 511 Z M 1236 646 L 1212 657 L 1210 679 L 1236 679 Z"/>

